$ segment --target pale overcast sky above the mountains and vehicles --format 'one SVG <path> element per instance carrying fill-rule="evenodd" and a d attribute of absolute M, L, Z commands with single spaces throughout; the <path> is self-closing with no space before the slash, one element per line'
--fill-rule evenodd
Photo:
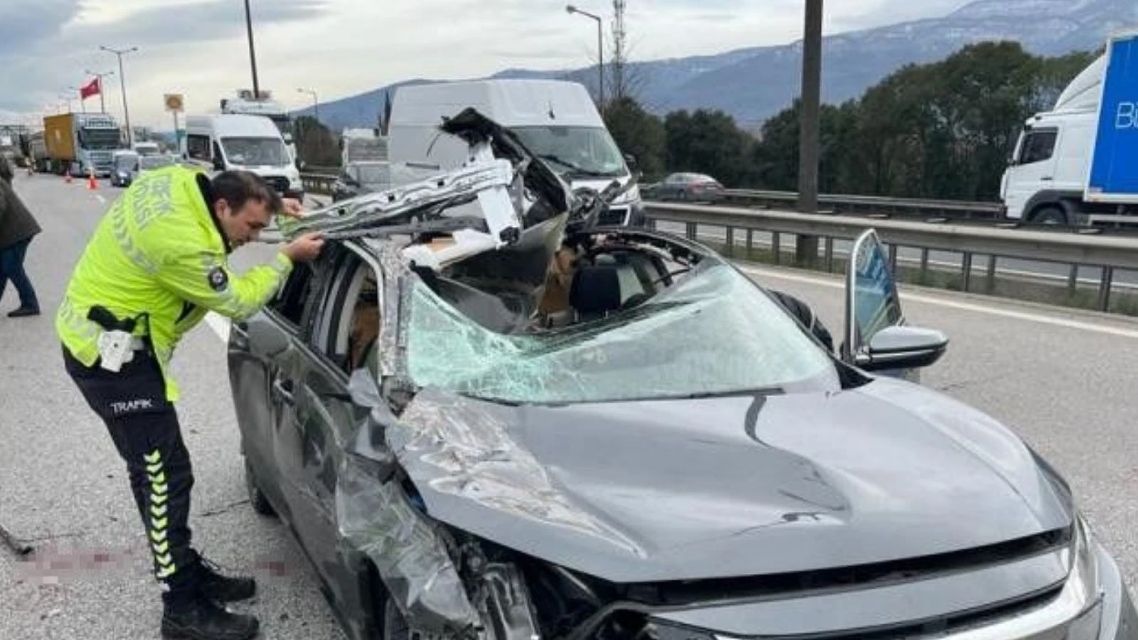
<path fill-rule="evenodd" d="M 572 0 L 612 16 L 610 0 Z M 825 33 L 945 15 L 966 0 L 827 0 Z M 258 81 L 289 107 L 414 77 L 461 79 L 503 68 L 594 64 L 595 23 L 564 0 L 250 0 Z M 637 60 L 718 54 L 798 40 L 802 0 L 627 0 Z M 185 95 L 189 113 L 216 110 L 251 88 L 241 0 L 0 0 L 0 123 L 56 113 L 86 80 L 107 79 L 107 109 L 122 117 L 123 57 L 131 122 L 170 129 L 162 95 Z M 608 40 L 609 34 L 605 34 Z M 98 97 L 86 101 L 99 108 Z"/>

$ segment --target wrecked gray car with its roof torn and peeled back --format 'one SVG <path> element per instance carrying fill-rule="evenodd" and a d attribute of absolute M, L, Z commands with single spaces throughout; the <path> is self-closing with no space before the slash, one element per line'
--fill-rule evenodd
<path fill-rule="evenodd" d="M 1138 638 L 1058 474 L 912 381 L 947 338 L 873 232 L 828 348 L 707 247 L 597 227 L 611 192 L 447 126 L 469 166 L 286 229 L 333 241 L 231 330 L 253 506 L 351 638 Z"/>

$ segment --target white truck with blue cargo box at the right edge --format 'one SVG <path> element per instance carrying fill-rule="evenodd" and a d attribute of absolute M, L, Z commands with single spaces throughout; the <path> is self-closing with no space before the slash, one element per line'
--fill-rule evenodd
<path fill-rule="evenodd" d="M 1138 33 L 1113 36 L 1052 110 L 1028 120 L 1000 184 L 1006 218 L 1138 224 L 1138 74 L 1127 66 L 1136 54 Z"/>

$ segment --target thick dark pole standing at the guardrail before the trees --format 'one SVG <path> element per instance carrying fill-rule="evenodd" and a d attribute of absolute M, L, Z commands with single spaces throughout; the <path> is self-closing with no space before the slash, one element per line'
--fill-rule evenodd
<path fill-rule="evenodd" d="M 822 0 L 806 0 L 806 34 L 802 40 L 802 120 L 798 166 L 798 210 L 802 213 L 818 213 L 820 102 Z M 794 254 L 800 265 L 808 266 L 817 262 L 817 236 L 798 236 Z"/>

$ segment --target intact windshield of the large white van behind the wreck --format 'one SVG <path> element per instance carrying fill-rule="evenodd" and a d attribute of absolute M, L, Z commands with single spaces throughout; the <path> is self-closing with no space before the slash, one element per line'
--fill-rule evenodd
<path fill-rule="evenodd" d="M 600 126 L 516 126 L 522 143 L 569 178 L 620 178 L 628 171 L 617 142 Z"/>

